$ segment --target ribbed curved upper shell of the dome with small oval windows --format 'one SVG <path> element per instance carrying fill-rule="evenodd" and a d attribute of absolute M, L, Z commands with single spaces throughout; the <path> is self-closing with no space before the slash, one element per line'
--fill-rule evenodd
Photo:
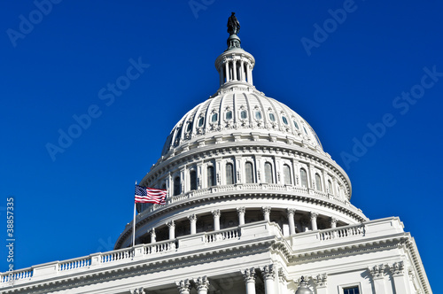
<path fill-rule="evenodd" d="M 162 155 L 189 148 L 202 139 L 215 143 L 218 135 L 223 140 L 229 140 L 229 135 L 232 141 L 235 136 L 253 140 L 252 132 L 281 143 L 304 143 L 323 151 L 315 131 L 297 112 L 253 88 L 237 85 L 221 89 L 186 113 L 168 135 Z"/>

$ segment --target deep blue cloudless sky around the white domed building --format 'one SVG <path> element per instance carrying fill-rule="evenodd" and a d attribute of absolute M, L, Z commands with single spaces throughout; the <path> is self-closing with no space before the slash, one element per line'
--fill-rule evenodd
<path fill-rule="evenodd" d="M 370 219 L 400 216 L 432 290 L 443 292 L 443 77 L 404 115 L 392 106 L 425 66 L 443 73 L 443 3 L 356 0 L 310 56 L 300 39 L 314 39 L 315 23 L 323 26 L 344 1 L 208 3 L 194 14 L 188 1 L 62 1 L 15 47 L 6 31 L 19 31 L 19 16 L 29 19 L 35 4 L 0 4 L 0 271 L 11 196 L 15 267 L 113 249 L 132 220 L 134 182 L 157 161 L 176 121 L 218 88 L 214 60 L 233 11 L 256 59 L 257 89 L 305 118 L 341 166 L 353 138 L 392 113 L 396 124 L 346 169 L 352 203 Z M 139 57 L 150 67 L 107 106 L 98 92 Z M 92 104 L 101 116 L 53 161 L 45 145 L 57 144 L 58 130 Z"/>

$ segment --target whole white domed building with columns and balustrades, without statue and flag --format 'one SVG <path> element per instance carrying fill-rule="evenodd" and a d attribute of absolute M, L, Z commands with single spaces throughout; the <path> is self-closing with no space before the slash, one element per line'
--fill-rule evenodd
<path fill-rule="evenodd" d="M 237 40 L 237 39 L 236 39 Z M 238 39 L 239 42 L 239 39 Z M 221 87 L 183 116 L 115 250 L 4 273 L 2 293 L 431 294 L 398 218 L 369 221 L 299 114 L 253 86 L 253 56 L 216 59 Z"/>

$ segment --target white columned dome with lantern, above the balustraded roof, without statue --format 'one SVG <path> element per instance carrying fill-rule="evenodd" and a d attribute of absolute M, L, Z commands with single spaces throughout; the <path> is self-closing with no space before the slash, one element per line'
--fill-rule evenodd
<path fill-rule="evenodd" d="M 367 221 L 346 172 L 297 112 L 253 85 L 253 55 L 231 34 L 215 60 L 220 88 L 179 120 L 140 185 L 166 205 L 137 204 L 136 244 L 274 221 L 284 236 Z M 115 244 L 132 242 L 128 224 Z"/>

